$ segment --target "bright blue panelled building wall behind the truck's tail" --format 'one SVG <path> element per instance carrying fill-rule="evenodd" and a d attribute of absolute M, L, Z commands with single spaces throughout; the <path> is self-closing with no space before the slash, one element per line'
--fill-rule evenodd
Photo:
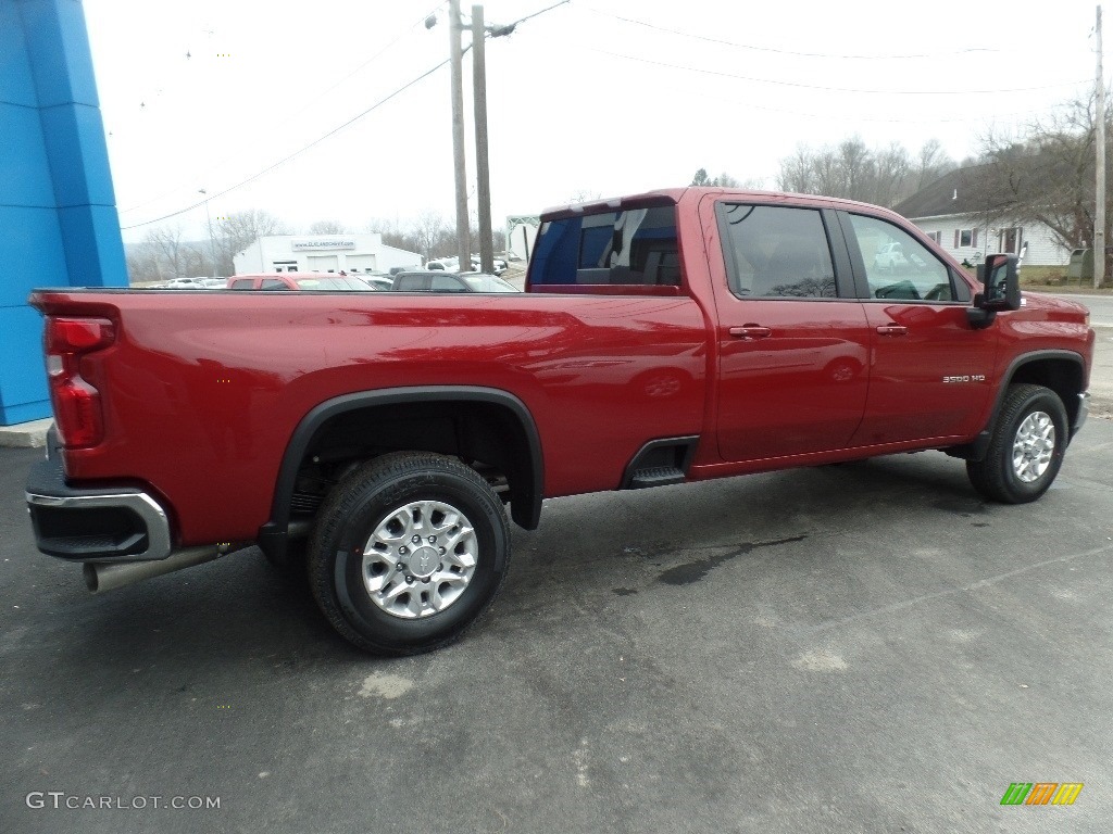
<path fill-rule="evenodd" d="M 0 425 L 50 416 L 35 287 L 126 287 L 78 0 L 0 0 Z"/>

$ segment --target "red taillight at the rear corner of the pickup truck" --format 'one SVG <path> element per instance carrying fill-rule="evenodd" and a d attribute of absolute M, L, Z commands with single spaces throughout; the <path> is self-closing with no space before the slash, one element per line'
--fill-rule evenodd
<path fill-rule="evenodd" d="M 96 446 L 105 438 L 100 391 L 81 377 L 81 357 L 116 339 L 104 318 L 47 318 L 45 336 L 50 401 L 62 445 Z"/>

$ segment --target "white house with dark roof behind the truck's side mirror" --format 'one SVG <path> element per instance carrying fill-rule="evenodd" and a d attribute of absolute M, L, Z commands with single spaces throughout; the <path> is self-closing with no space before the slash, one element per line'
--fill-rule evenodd
<path fill-rule="evenodd" d="M 986 207 L 975 185 L 978 172 L 974 168 L 959 168 L 944 175 L 897 203 L 894 210 L 916 224 L 958 260 L 979 264 L 986 255 L 1018 255 L 1021 247 L 1027 244 L 1026 265 L 1066 266 L 1071 250 L 1043 224 L 1021 225 L 1004 220 L 987 226 L 979 219 Z"/>

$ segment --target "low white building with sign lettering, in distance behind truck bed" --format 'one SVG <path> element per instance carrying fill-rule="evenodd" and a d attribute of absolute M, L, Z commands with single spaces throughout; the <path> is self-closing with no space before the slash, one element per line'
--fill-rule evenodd
<path fill-rule="evenodd" d="M 256 272 L 386 272 L 421 268 L 421 256 L 366 235 L 268 235 L 234 258 L 236 275 Z"/>

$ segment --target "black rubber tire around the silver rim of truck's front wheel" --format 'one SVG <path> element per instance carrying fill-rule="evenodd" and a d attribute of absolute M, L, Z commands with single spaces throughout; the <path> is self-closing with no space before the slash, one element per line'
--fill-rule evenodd
<path fill-rule="evenodd" d="M 1021 426 L 1038 414 L 1051 418 L 1054 448 L 1046 468 L 1038 475 L 1033 473 L 1032 480 L 1025 480 L 1017 474 L 1014 465 L 1014 447 Z M 985 459 L 966 461 L 971 484 L 991 500 L 1003 504 L 1034 502 L 1047 492 L 1058 475 L 1070 437 L 1067 431 L 1066 409 L 1055 391 L 1042 385 L 1011 385 L 1001 404 Z"/>

